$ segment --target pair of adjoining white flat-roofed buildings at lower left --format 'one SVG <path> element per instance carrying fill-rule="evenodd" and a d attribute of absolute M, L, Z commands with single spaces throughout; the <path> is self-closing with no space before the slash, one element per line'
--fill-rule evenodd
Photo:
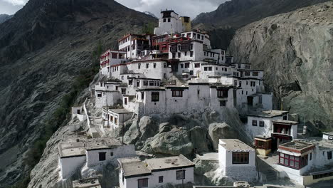
<path fill-rule="evenodd" d="M 107 162 L 117 162 L 118 158 L 134 157 L 134 145 L 124 145 L 110 137 L 97 137 L 77 142 L 58 144 L 58 166 L 60 177 L 70 178 L 83 167 L 100 167 Z"/>

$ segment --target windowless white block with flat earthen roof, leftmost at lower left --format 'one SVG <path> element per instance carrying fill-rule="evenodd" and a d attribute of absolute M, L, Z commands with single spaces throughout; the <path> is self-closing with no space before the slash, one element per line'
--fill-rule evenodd
<path fill-rule="evenodd" d="M 85 143 L 59 143 L 58 144 L 58 165 L 62 179 L 70 178 L 85 164 Z"/>

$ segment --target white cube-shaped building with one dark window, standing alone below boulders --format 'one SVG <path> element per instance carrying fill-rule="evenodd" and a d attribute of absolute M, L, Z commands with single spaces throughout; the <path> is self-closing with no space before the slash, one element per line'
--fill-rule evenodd
<path fill-rule="evenodd" d="M 249 182 L 258 179 L 255 149 L 238 139 L 220 139 L 218 161 L 223 176 Z"/>

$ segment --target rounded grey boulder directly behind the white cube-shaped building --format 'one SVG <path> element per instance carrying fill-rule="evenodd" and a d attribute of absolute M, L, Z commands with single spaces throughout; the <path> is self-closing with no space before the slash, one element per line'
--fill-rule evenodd
<path fill-rule="evenodd" d="M 208 134 L 213 142 L 213 148 L 218 149 L 218 140 L 222 138 L 237 138 L 238 133 L 236 130 L 226 124 L 223 123 L 211 123 L 208 128 Z"/>

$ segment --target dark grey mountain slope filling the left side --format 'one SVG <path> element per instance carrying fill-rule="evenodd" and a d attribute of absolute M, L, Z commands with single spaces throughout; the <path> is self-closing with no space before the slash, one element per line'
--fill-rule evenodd
<path fill-rule="evenodd" d="M 92 52 L 152 16 L 110 0 L 30 0 L 0 24 L 0 187 L 23 177 L 25 152 L 43 134 L 45 120 L 68 93 Z"/>

